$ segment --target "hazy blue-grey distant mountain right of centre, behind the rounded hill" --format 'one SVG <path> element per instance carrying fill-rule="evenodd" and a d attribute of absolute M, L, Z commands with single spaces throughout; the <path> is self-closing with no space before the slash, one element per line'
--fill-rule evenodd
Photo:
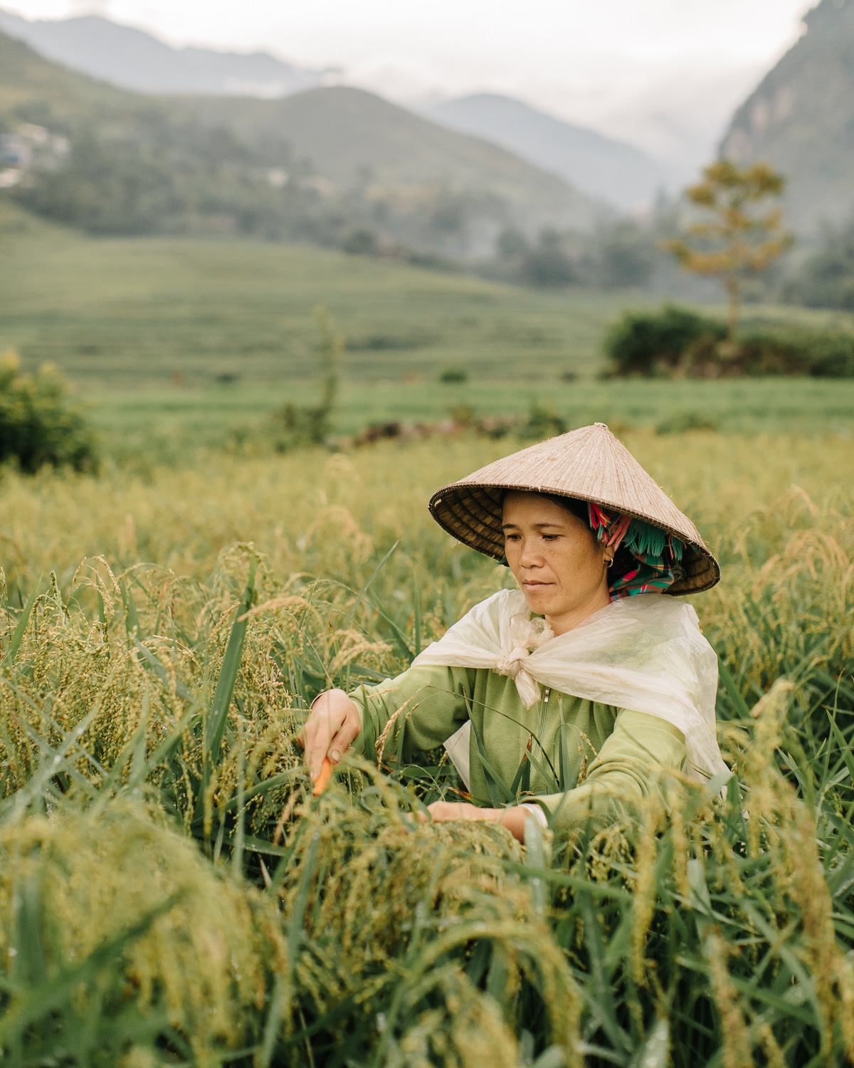
<path fill-rule="evenodd" d="M 627 211 L 651 206 L 666 183 L 662 168 L 638 148 L 565 123 L 509 96 L 463 96 L 427 113 L 450 129 L 500 144 L 558 174 L 582 192 Z"/>

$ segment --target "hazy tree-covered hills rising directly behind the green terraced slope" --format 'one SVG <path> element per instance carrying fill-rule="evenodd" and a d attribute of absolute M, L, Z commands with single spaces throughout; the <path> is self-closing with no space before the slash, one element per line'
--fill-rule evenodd
<path fill-rule="evenodd" d="M 28 128 L 25 128 L 25 126 Z M 9 193 L 97 233 L 256 233 L 379 241 L 449 256 L 506 226 L 591 229 L 606 209 L 511 153 L 355 89 L 279 100 L 144 96 L 0 34 L 0 125 L 33 143 Z M 2 130 L 0 130 L 2 132 Z M 9 162 L 9 159 L 5 161 Z M 2 169 L 0 161 L 0 169 Z"/>

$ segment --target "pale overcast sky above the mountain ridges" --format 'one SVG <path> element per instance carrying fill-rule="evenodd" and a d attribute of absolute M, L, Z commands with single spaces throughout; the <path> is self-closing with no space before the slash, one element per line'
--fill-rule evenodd
<path fill-rule="evenodd" d="M 797 38 L 810 0 L 0 0 L 28 18 L 99 13 L 174 45 L 263 49 L 417 103 L 504 92 L 702 159 Z"/>

